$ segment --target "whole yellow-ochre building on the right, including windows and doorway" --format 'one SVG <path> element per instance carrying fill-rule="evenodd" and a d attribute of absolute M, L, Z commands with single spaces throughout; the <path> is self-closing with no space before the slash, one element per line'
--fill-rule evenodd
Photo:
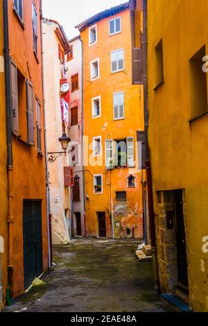
<path fill-rule="evenodd" d="M 206 0 L 149 0 L 148 95 L 159 282 L 208 311 Z"/>

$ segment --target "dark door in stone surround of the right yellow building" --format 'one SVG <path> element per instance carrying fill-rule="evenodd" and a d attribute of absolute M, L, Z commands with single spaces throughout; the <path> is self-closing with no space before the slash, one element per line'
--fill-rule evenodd
<path fill-rule="evenodd" d="M 189 293 L 187 241 L 184 225 L 182 190 L 175 190 L 175 237 L 177 246 L 178 284 L 182 291 Z"/>

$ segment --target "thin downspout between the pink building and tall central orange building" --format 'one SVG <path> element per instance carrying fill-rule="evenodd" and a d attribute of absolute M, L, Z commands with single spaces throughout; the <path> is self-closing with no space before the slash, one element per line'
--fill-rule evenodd
<path fill-rule="evenodd" d="M 83 40 L 79 38 L 82 45 L 82 169 L 83 169 L 83 209 L 84 209 L 84 224 L 85 224 L 85 238 L 87 237 L 87 223 L 86 223 L 86 203 L 85 203 L 85 168 L 84 168 L 84 148 L 83 148 L 83 137 L 84 137 L 84 53 L 83 53 Z"/>

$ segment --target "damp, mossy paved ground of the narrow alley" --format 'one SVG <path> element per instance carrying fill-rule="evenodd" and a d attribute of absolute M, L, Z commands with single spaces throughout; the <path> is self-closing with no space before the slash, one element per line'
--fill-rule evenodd
<path fill-rule="evenodd" d="M 138 241 L 78 239 L 55 246 L 46 284 L 15 300 L 9 312 L 171 311 L 153 290 L 152 263 L 139 263 Z"/>

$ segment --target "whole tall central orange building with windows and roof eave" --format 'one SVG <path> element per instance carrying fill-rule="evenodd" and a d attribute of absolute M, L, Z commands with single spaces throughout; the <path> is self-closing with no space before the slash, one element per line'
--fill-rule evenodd
<path fill-rule="evenodd" d="M 144 132 L 144 109 L 142 86 L 132 83 L 129 3 L 77 27 L 83 40 L 87 236 L 142 238 L 145 175 L 137 138 Z"/>

